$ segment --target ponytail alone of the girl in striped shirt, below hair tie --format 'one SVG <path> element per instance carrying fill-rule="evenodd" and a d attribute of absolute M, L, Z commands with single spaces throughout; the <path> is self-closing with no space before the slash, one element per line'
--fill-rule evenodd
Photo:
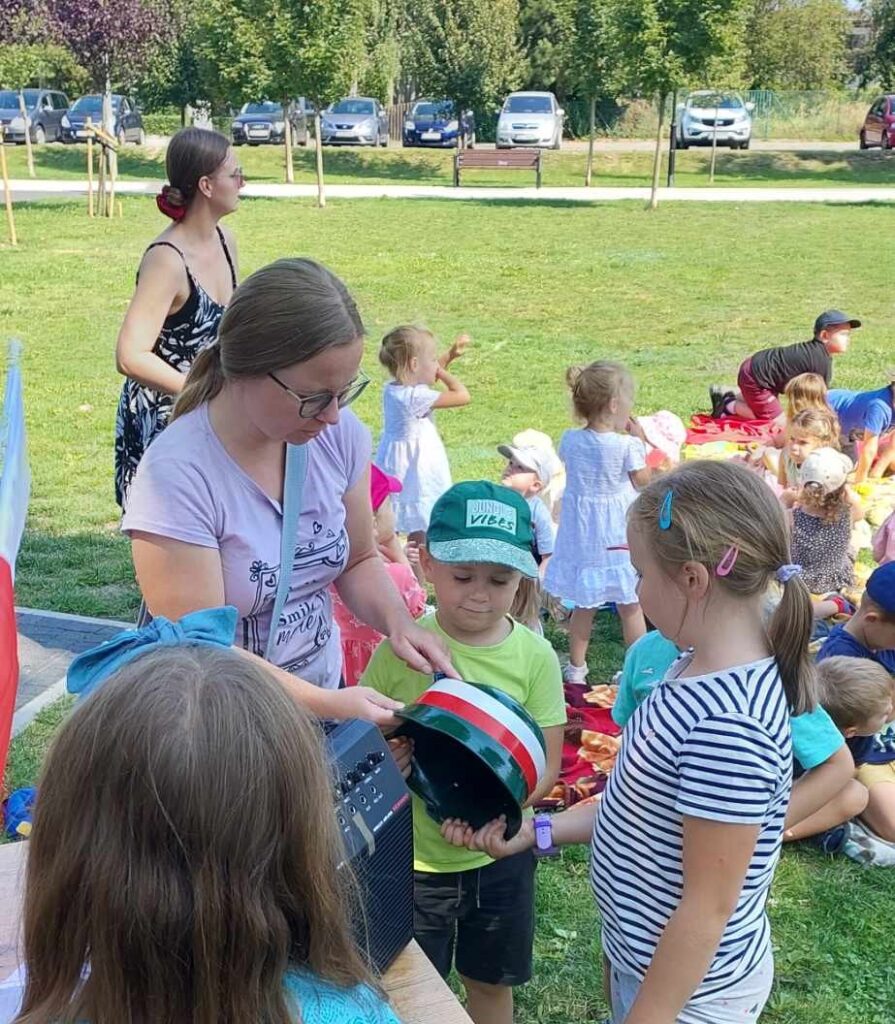
<path fill-rule="evenodd" d="M 783 566 L 784 569 L 794 566 Z M 768 625 L 768 641 L 793 715 L 813 711 L 817 703 L 814 659 L 808 643 L 814 629 L 811 595 L 798 572 L 778 575 L 782 596 Z"/>

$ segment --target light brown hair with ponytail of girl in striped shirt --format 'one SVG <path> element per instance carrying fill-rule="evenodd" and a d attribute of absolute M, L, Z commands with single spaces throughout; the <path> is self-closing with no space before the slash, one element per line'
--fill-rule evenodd
<path fill-rule="evenodd" d="M 669 508 L 671 522 L 663 528 Z M 777 570 L 792 561 L 779 502 L 758 474 L 733 462 L 689 462 L 651 481 L 629 518 L 669 574 L 685 562 L 698 562 L 709 569 L 713 587 L 741 597 L 765 594 Z M 718 575 L 715 569 L 732 547 L 733 567 Z M 768 641 L 794 715 L 817 702 L 808 654 L 813 626 L 807 587 L 800 575 L 786 573 Z"/>

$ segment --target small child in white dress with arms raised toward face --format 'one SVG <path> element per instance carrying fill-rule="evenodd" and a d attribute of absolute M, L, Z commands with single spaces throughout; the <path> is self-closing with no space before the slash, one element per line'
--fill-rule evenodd
<path fill-rule="evenodd" d="M 469 403 L 469 391 L 448 372 L 468 345 L 469 337 L 462 334 L 439 356 L 430 331 L 397 327 L 379 349 L 379 361 L 392 380 L 382 393 L 383 428 L 375 462 L 401 481 L 403 489 L 393 498 L 396 527 L 415 544 L 425 543 L 432 506 L 452 483 L 432 412 Z M 434 387 L 439 381 L 445 390 Z"/>

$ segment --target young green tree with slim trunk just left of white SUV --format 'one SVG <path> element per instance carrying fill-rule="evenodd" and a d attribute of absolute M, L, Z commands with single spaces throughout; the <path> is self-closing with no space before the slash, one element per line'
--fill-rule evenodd
<path fill-rule="evenodd" d="M 621 70 L 621 85 L 655 96 L 658 127 L 649 208 L 658 204 L 663 130 L 668 97 L 707 83 L 744 47 L 750 0 L 607 0 L 607 59 Z M 726 77 L 726 76 L 725 76 Z"/>

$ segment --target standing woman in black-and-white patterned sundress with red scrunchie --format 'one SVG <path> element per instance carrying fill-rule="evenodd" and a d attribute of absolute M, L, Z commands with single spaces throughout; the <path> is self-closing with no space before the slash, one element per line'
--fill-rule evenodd
<path fill-rule="evenodd" d="M 115 497 L 125 507 L 143 453 L 168 422 L 193 360 L 217 337 L 237 287 L 237 247 L 220 220 L 244 182 L 225 136 L 184 128 L 168 145 L 156 197 L 172 223 L 143 254 L 115 357 L 127 378 L 115 428 Z"/>

